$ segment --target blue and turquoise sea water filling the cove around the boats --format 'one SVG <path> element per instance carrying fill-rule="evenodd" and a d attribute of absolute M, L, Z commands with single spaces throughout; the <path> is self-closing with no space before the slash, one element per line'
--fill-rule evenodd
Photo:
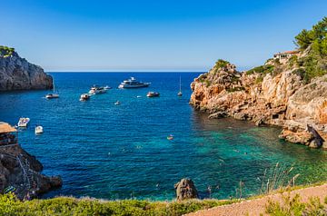
<path fill-rule="evenodd" d="M 233 119 L 208 120 L 189 105 L 191 73 L 53 73 L 60 98 L 48 91 L 0 93 L 0 121 L 16 124 L 31 118 L 19 133 L 20 144 L 41 161 L 47 175 L 61 175 L 64 186 L 45 194 L 104 199 L 174 198 L 173 184 L 192 178 L 198 191 L 213 197 L 235 195 L 244 182 L 246 195 L 258 192 L 267 168 L 276 162 L 293 165 L 298 183 L 327 179 L 327 152 L 278 139 L 281 129 L 255 127 Z M 134 75 L 149 88 L 119 90 Z M 176 96 L 182 76 L 183 97 Z M 93 84 L 114 87 L 79 102 Z M 148 91 L 159 98 L 147 98 Z M 141 98 L 137 98 L 141 95 Z M 121 105 L 114 105 L 115 101 Z M 44 126 L 36 136 L 34 126 Z M 173 133 L 173 142 L 166 139 Z M 219 185 L 219 189 L 218 186 Z"/>

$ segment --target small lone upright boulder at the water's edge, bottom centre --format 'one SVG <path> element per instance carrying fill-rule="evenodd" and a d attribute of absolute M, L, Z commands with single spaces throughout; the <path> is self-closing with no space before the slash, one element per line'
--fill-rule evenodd
<path fill-rule="evenodd" d="M 176 189 L 177 201 L 198 197 L 195 185 L 190 179 L 182 179 L 181 182 L 175 183 L 174 188 Z"/>

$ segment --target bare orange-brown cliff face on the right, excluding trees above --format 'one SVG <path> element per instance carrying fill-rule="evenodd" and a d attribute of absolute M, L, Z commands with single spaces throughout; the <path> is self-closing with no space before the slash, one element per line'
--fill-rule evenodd
<path fill-rule="evenodd" d="M 216 64 L 191 84 L 190 103 L 210 118 L 232 116 L 283 127 L 280 137 L 310 147 L 327 139 L 327 75 L 305 83 L 289 61 L 270 60 L 248 72 Z M 270 70 L 273 68 L 273 70 Z"/>

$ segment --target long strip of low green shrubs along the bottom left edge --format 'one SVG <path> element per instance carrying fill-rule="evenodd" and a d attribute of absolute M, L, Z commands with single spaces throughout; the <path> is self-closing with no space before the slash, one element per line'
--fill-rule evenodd
<path fill-rule="evenodd" d="M 19 201 L 13 194 L 0 196 L 0 215 L 183 215 L 233 201 L 100 201 L 58 197 L 49 200 Z"/>

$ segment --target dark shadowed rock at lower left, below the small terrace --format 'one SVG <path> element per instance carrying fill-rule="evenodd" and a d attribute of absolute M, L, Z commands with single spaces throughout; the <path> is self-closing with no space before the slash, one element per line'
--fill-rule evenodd
<path fill-rule="evenodd" d="M 15 188 L 13 191 L 21 200 L 62 186 L 59 176 L 48 177 L 40 172 L 41 162 L 25 152 L 18 144 L 2 145 L 0 148 L 0 191 Z"/>

